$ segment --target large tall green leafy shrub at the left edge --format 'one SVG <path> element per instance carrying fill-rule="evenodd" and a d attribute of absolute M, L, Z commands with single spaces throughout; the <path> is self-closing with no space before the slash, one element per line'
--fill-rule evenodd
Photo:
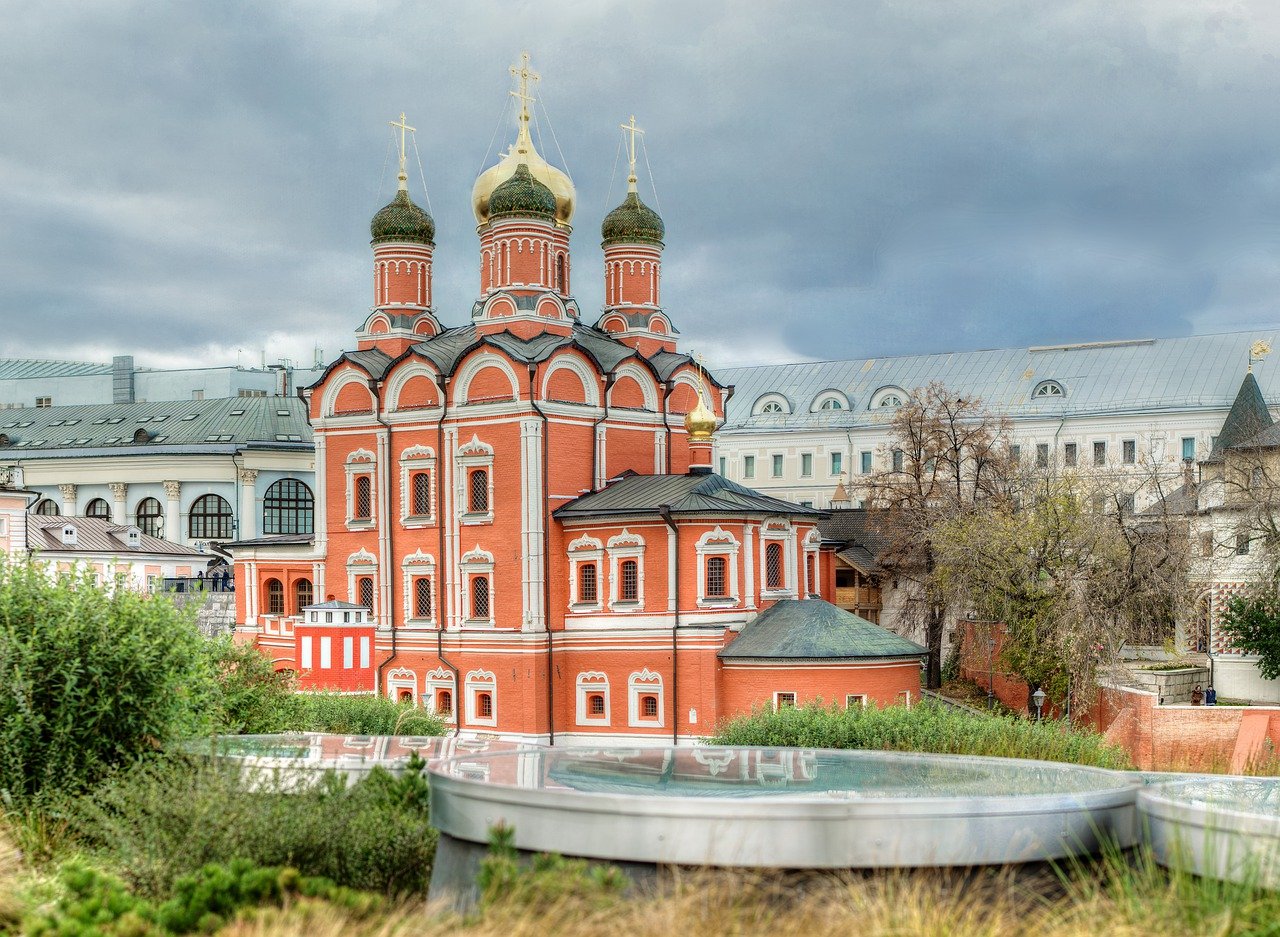
<path fill-rule="evenodd" d="M 202 726 L 205 639 L 164 598 L 0 559 L 0 799 L 95 783 Z"/>

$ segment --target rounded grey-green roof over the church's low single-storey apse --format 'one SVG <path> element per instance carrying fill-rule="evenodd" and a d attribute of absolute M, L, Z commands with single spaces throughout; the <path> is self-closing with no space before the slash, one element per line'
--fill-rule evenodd
<path fill-rule="evenodd" d="M 783 599 L 760 612 L 723 659 L 846 661 L 924 657 L 924 648 L 823 599 Z"/>

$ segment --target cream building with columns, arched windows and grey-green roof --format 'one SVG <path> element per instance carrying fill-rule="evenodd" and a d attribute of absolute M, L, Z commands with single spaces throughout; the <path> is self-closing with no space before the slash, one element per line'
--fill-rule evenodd
<path fill-rule="evenodd" d="M 314 449 L 297 397 L 6 410 L 0 477 L 37 515 L 136 525 L 188 547 L 310 533 Z"/>

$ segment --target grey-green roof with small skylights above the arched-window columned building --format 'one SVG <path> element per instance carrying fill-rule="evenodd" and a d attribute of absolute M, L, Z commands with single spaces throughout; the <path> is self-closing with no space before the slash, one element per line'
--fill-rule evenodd
<path fill-rule="evenodd" d="M 146 433 L 142 439 L 140 433 Z M 134 442 L 134 436 L 138 442 Z M 92 403 L 0 411 L 0 461 L 147 454 L 310 449 L 306 403 L 297 397 L 220 397 L 205 401 Z"/>

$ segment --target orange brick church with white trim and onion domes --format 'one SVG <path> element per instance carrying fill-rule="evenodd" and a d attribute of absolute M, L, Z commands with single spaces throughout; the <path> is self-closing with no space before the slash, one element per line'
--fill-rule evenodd
<path fill-rule="evenodd" d="M 712 471 L 731 388 L 677 349 L 634 122 L 628 191 L 602 225 L 605 307 L 582 321 L 573 184 L 534 146 L 536 76 L 513 73 L 516 142 L 472 192 L 465 324 L 436 317 L 435 224 L 398 124 L 372 312 L 306 392 L 315 501 L 279 506 L 298 533 L 232 544 L 238 639 L 303 689 L 552 744 L 685 742 L 760 704 L 914 699 L 924 650 L 826 600 L 819 512 Z"/>

